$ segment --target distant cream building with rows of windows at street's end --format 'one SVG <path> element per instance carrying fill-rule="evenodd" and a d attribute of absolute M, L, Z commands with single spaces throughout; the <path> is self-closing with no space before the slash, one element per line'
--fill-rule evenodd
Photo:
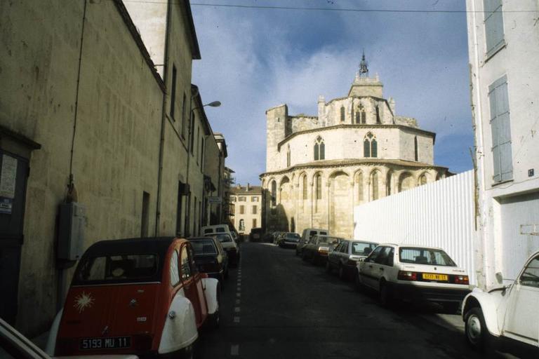
<path fill-rule="evenodd" d="M 230 189 L 230 202 L 234 203 L 230 222 L 238 233 L 249 234 L 251 229 L 262 226 L 262 187 L 237 184 Z"/>

